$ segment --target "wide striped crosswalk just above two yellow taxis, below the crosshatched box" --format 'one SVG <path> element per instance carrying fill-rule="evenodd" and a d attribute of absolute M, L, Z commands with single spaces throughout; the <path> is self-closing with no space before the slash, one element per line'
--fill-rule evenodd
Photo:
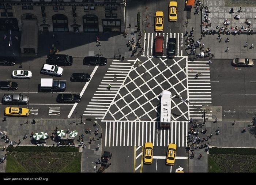
<path fill-rule="evenodd" d="M 106 121 L 105 147 L 144 146 L 152 142 L 153 146 L 168 146 L 176 143 L 186 147 L 188 133 L 187 121 L 172 121 L 170 129 L 159 129 L 158 121 Z"/>

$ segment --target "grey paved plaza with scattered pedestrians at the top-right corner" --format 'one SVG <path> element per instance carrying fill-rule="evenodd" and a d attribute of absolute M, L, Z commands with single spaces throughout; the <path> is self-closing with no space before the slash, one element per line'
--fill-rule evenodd
<path fill-rule="evenodd" d="M 255 48 L 251 48 L 251 44 L 255 45 L 256 44 L 256 36 L 255 34 L 253 35 L 247 35 L 246 32 L 244 31 L 244 34 L 236 34 L 236 36 L 231 31 L 231 35 L 223 34 L 221 33 L 222 37 L 222 42 L 220 42 L 220 39 L 218 38 L 218 30 L 216 29 L 216 26 L 222 27 L 224 26 L 224 20 L 229 19 L 230 24 L 229 27 L 233 26 L 238 26 L 240 29 L 242 26 L 245 27 L 245 19 L 248 19 L 252 22 L 251 28 L 248 29 L 253 29 L 253 27 L 256 25 L 256 19 L 255 19 L 255 12 L 256 12 L 256 7 L 242 7 L 242 12 L 238 13 L 237 11 L 239 10 L 240 7 L 233 7 L 234 12 L 233 14 L 229 14 L 229 11 L 231 7 L 224 7 L 224 0 L 214 0 L 214 1 L 202 1 L 202 4 L 207 5 L 209 8 L 209 17 L 212 17 L 212 26 L 206 28 L 207 29 L 215 29 L 217 33 L 213 34 L 206 34 L 206 37 L 203 37 L 201 44 L 204 44 L 204 51 L 201 51 L 200 48 L 196 49 L 196 54 L 199 54 L 200 52 L 205 52 L 205 49 L 210 47 L 211 48 L 211 53 L 214 54 L 214 58 L 256 58 L 256 53 L 255 53 Z M 195 28 L 195 31 L 193 33 L 194 35 L 194 40 L 200 41 L 201 38 L 201 31 L 203 28 L 201 27 L 202 23 L 202 17 L 204 16 L 204 10 L 203 9 L 203 14 L 201 15 L 201 12 L 199 12 L 199 15 L 194 14 L 195 8 L 191 9 L 191 18 L 187 19 L 188 20 L 188 26 L 186 27 L 186 31 L 191 31 L 192 27 Z M 187 11 L 186 14 L 189 14 Z M 233 17 L 235 14 L 239 14 L 241 16 L 240 20 L 235 20 Z M 211 22 L 211 21 L 210 21 Z M 202 30 L 201 30 L 202 29 Z M 255 30 L 255 29 L 254 29 Z M 238 30 L 237 30 L 238 31 Z M 226 42 L 226 38 L 229 38 L 229 42 Z M 187 37 L 184 38 L 184 41 Z M 248 47 L 245 47 L 245 43 L 248 42 Z M 186 49 L 187 53 L 190 53 L 190 49 L 187 49 L 188 46 L 186 45 L 186 42 L 184 44 L 184 47 Z M 229 47 L 229 51 L 226 52 L 227 47 Z M 184 52 L 185 54 L 185 52 Z M 190 55 L 190 58 L 199 58 L 197 55 Z"/>

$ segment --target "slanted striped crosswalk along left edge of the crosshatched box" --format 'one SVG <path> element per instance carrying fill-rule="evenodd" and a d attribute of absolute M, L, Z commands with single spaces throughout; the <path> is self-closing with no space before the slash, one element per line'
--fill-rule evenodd
<path fill-rule="evenodd" d="M 113 60 L 110 67 L 105 73 L 105 76 L 101 80 L 101 83 L 95 91 L 89 105 L 87 105 L 86 111 L 83 116 L 94 116 L 95 119 L 102 119 L 105 115 L 110 103 L 114 99 L 118 89 L 124 82 L 127 74 L 131 70 L 133 61 L 120 61 Z M 108 84 L 111 84 L 111 88 L 108 90 Z"/>

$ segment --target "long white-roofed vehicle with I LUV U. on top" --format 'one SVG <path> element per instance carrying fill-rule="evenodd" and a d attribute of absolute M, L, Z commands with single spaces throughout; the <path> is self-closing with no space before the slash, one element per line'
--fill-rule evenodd
<path fill-rule="evenodd" d="M 160 115 L 160 129 L 169 129 L 171 124 L 171 101 L 172 94 L 170 91 L 163 91 L 161 93 L 161 115 Z"/>

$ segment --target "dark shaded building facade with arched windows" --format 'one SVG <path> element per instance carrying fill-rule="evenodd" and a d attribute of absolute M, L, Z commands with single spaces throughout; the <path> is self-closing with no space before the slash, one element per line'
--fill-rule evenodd
<path fill-rule="evenodd" d="M 125 0 L 0 0 L 0 30 L 124 32 Z"/>

